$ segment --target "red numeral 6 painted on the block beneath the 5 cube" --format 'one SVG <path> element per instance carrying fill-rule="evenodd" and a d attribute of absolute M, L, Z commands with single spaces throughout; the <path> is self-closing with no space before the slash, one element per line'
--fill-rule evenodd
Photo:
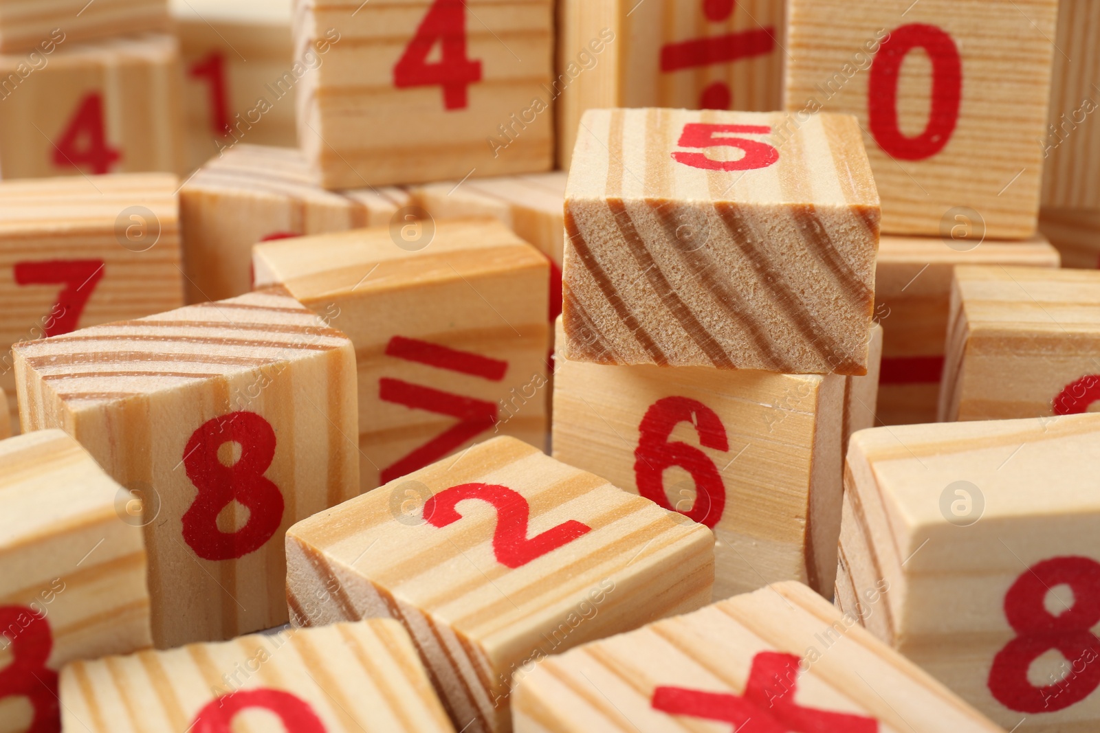
<path fill-rule="evenodd" d="M 682 422 L 695 425 L 703 447 L 723 452 L 729 449 L 726 429 L 714 410 L 686 397 L 660 399 L 650 406 L 638 426 L 641 437 L 634 452 L 638 493 L 670 511 L 679 511 L 672 508 L 664 493 L 664 471 L 672 466 L 681 466 L 695 480 L 696 493 L 691 511 L 681 513 L 713 530 L 726 510 L 726 487 L 718 467 L 705 453 L 680 441 L 669 443 L 672 431 Z"/>

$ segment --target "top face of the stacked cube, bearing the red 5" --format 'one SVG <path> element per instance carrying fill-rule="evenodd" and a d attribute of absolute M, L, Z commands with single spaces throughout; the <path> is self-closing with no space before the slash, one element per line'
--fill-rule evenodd
<path fill-rule="evenodd" d="M 590 110 L 565 199 L 879 207 L 855 118 L 713 110 Z"/>

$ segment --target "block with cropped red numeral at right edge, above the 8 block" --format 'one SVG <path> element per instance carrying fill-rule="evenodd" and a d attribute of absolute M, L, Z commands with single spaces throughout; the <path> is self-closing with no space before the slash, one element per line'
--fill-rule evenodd
<path fill-rule="evenodd" d="M 1100 273 L 956 267 L 941 421 L 1100 409 Z"/>

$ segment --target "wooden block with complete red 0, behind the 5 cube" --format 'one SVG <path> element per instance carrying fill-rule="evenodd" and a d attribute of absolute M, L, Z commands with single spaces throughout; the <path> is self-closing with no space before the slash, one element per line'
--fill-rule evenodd
<path fill-rule="evenodd" d="M 990 238 L 1026 238 L 1038 214 L 1057 7 L 792 0 L 789 122 L 818 111 L 858 118 L 883 234 L 946 233 L 965 209 Z"/>

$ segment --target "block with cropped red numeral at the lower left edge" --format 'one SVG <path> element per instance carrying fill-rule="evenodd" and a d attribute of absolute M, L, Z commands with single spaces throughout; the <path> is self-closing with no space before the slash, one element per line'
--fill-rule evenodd
<path fill-rule="evenodd" d="M 57 673 L 153 643 L 138 499 L 59 430 L 0 442 L 0 731 L 59 731 Z"/>

